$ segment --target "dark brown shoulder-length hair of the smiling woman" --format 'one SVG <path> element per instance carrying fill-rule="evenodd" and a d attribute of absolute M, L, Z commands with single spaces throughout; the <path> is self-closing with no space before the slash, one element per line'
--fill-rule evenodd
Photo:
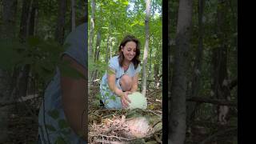
<path fill-rule="evenodd" d="M 119 57 L 118 57 L 119 65 L 120 66 L 123 65 L 123 62 L 124 62 L 125 58 L 124 58 L 124 55 L 122 53 L 122 47 L 126 46 L 127 42 L 135 42 L 136 43 L 136 54 L 135 54 L 134 58 L 131 61 L 134 63 L 134 68 L 137 69 L 138 64 L 141 62 L 139 60 L 139 54 L 141 54 L 141 52 L 139 50 L 140 49 L 140 42 L 133 35 L 126 35 L 126 37 L 123 38 L 122 42 L 120 43 L 119 50 L 118 50 L 118 52 L 119 52 Z"/>

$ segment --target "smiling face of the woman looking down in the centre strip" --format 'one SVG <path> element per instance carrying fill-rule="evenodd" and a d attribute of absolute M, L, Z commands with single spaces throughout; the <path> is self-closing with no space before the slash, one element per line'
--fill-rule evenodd
<path fill-rule="evenodd" d="M 135 42 L 126 42 L 126 46 L 121 46 L 122 47 L 122 53 L 125 57 L 125 60 L 131 61 L 135 55 L 136 55 L 136 43 Z"/>

